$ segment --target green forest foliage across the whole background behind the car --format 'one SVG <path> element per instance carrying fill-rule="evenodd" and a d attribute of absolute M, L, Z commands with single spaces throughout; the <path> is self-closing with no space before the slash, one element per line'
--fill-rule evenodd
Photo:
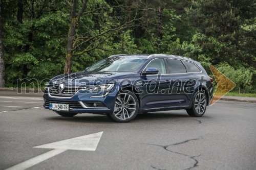
<path fill-rule="evenodd" d="M 78 13 L 84 1 L 77 2 Z M 2 0 L 7 87 L 63 74 L 72 3 Z M 235 91 L 255 92 L 255 19 L 255 0 L 88 0 L 73 47 L 77 54 L 93 48 L 72 57 L 71 71 L 114 54 L 172 54 L 200 61 L 209 75 L 212 64 L 237 84 Z M 86 41 L 122 23 L 129 27 Z"/>

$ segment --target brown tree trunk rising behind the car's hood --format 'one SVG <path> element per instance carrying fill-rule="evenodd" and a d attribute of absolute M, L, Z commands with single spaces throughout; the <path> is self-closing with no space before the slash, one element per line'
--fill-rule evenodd
<path fill-rule="evenodd" d="M 77 0 L 73 0 L 73 6 L 71 11 L 71 26 L 69 29 L 68 34 L 68 43 L 67 43 L 67 56 L 65 62 L 64 73 L 70 74 L 71 66 L 72 66 L 72 56 L 73 56 L 73 44 L 74 44 L 74 37 L 75 37 L 75 28 L 78 22 L 78 18 L 76 17 L 76 9 L 77 9 Z"/>

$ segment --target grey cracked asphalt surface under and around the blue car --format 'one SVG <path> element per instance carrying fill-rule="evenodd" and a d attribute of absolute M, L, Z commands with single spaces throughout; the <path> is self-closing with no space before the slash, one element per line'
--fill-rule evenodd
<path fill-rule="evenodd" d="M 68 150 L 28 169 L 256 169 L 256 104 L 218 101 L 203 117 L 184 110 L 61 117 L 38 95 L 0 93 L 0 169 L 51 149 L 37 145 L 102 132 L 96 151 Z"/>

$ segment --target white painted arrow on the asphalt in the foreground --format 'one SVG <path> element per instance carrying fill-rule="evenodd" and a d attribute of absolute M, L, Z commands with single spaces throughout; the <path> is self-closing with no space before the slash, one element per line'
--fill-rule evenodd
<path fill-rule="evenodd" d="M 67 150 L 95 151 L 102 133 L 103 132 L 93 133 L 90 135 L 79 136 L 33 147 L 49 148 L 54 150 L 38 155 L 25 162 L 14 165 L 6 170 L 24 170 Z"/>

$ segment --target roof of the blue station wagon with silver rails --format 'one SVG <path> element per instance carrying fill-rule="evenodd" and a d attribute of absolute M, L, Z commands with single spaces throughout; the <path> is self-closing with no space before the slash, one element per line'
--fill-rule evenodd
<path fill-rule="evenodd" d="M 181 57 L 181 56 L 175 56 L 175 55 L 167 55 L 167 54 L 117 54 L 117 55 L 112 55 L 109 58 L 112 57 L 142 57 L 142 58 L 158 58 L 158 57 L 168 57 L 168 58 L 173 58 L 173 59 L 183 59 L 183 60 L 192 60 L 191 58 L 187 57 Z"/>

